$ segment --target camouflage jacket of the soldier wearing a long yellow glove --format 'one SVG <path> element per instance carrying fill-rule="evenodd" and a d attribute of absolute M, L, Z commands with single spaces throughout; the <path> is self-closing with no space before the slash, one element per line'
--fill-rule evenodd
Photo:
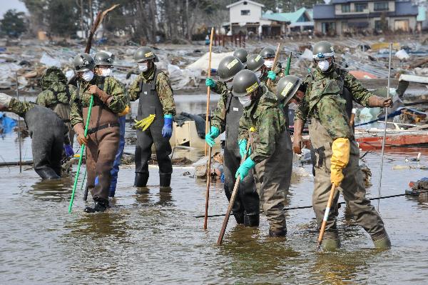
<path fill-rule="evenodd" d="M 353 132 L 349 125 L 342 90 L 346 87 L 352 100 L 362 106 L 369 106 L 372 92 L 365 89 L 352 74 L 340 68 L 335 68 L 327 74 L 315 70 L 313 74 L 307 75 L 303 84 L 306 92 L 296 109 L 295 119 L 319 119 L 333 140 L 351 139 Z"/>

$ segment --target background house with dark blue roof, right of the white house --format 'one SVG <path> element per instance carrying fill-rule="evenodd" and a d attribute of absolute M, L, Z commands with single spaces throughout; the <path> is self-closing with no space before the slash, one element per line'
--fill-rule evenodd
<path fill-rule="evenodd" d="M 331 0 L 313 10 L 315 31 L 341 35 L 358 31 L 415 31 L 418 7 L 411 1 Z"/>

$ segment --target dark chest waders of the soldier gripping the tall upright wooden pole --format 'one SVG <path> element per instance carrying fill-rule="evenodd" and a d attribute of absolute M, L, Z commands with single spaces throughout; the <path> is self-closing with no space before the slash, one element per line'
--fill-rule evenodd
<path fill-rule="evenodd" d="M 235 173 L 240 166 L 240 152 L 238 146 L 239 135 L 239 120 L 243 115 L 243 105 L 237 97 L 228 94 L 226 102 L 226 143 L 224 150 L 224 174 L 225 194 L 230 200 L 232 195 L 233 186 L 235 185 Z M 235 203 L 233 204 L 233 215 L 235 216 L 238 224 L 245 226 L 258 226 L 260 200 L 255 189 L 253 178 L 253 171 L 248 173 L 248 176 L 240 182 L 238 195 L 236 196 Z"/>

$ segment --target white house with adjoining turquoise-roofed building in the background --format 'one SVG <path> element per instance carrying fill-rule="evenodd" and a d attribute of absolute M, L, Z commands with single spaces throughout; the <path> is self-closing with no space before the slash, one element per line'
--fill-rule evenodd
<path fill-rule="evenodd" d="M 226 6 L 229 9 L 229 34 L 258 34 L 282 36 L 292 31 L 314 29 L 312 11 L 305 8 L 290 13 L 263 14 L 265 5 L 255 1 L 237 1 Z"/>

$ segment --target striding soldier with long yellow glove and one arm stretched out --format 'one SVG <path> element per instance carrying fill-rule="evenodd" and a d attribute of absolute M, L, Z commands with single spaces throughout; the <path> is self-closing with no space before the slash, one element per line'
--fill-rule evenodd
<path fill-rule="evenodd" d="M 295 114 L 293 149 L 300 154 L 302 127 L 309 120 L 310 140 L 315 149 L 315 190 L 312 205 L 318 227 L 322 224 L 332 184 L 342 192 L 357 224 L 372 236 L 378 248 L 390 246 L 384 223 L 374 206 L 365 197 L 365 185 L 359 167 L 360 151 L 350 126 L 352 101 L 362 106 L 391 106 L 391 99 L 374 96 L 354 76 L 335 66 L 335 52 L 330 43 L 315 44 L 313 56 L 317 69 L 303 85 L 306 92 Z M 327 219 L 322 245 L 327 249 L 340 247 L 337 234 L 337 199 Z"/>

